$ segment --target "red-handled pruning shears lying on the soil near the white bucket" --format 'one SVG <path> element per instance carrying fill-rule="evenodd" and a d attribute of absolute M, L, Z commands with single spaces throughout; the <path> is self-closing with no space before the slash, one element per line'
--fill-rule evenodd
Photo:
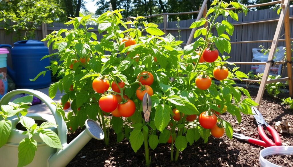
<path fill-rule="evenodd" d="M 263 116 L 255 107 L 251 107 L 251 110 L 253 113 L 253 117 L 255 118 L 255 121 L 258 124 L 258 128 L 257 128 L 258 134 L 262 140 L 253 139 L 238 133 L 233 133 L 233 137 L 238 140 L 248 141 L 249 143 L 257 144 L 263 147 L 281 146 L 282 142 L 278 132 L 274 128 L 272 128 L 267 122 L 265 122 L 265 120 L 263 119 Z M 268 136 L 265 134 L 265 130 L 263 129 L 263 126 L 265 126 L 266 129 L 270 132 L 275 143 L 272 142 L 272 140 L 270 140 Z"/>

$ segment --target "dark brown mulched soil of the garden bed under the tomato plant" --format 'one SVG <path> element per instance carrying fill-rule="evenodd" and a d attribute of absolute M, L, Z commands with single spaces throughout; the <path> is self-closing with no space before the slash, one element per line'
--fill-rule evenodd
<path fill-rule="evenodd" d="M 248 90 L 252 99 L 255 100 L 258 89 L 249 88 Z M 289 97 L 289 94 L 280 94 L 279 97 L 280 99 Z M 263 96 L 260 112 L 271 126 L 282 119 L 293 124 L 293 111 L 281 105 L 280 99 L 272 99 L 266 92 Z M 227 112 L 221 117 L 231 123 L 234 132 L 258 138 L 257 128 L 249 115 L 242 115 L 241 124 L 238 124 L 236 117 Z M 73 134 L 69 133 L 68 141 L 73 140 L 80 132 L 79 129 Z M 283 143 L 293 145 L 293 134 L 280 134 L 280 136 Z M 108 147 L 105 147 L 103 141 L 92 139 L 68 166 L 144 166 L 143 147 L 135 154 L 127 140 L 120 143 L 115 141 L 116 136 L 113 133 L 110 133 Z M 151 166 L 260 166 L 259 151 L 261 149 L 263 147 L 236 139 L 230 140 L 226 135 L 219 139 L 211 136 L 207 144 L 200 139 L 180 153 L 178 162 L 171 162 L 171 144 L 159 144 L 155 150 L 150 151 Z"/>

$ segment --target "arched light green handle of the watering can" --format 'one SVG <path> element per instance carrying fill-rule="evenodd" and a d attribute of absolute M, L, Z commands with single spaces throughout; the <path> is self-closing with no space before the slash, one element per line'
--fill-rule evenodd
<path fill-rule="evenodd" d="M 1 100 L 0 100 L 0 105 L 7 105 L 8 102 L 15 96 L 18 94 L 30 94 L 30 95 L 34 95 L 35 97 L 38 97 L 39 99 L 41 99 L 50 109 L 50 111 L 52 112 L 56 124 L 57 126 L 57 130 L 58 130 L 58 136 L 59 139 L 61 141 L 61 144 L 67 144 L 66 139 L 67 139 L 67 126 L 62 118 L 62 115 L 57 111 L 57 107 L 52 104 L 55 103 L 50 97 L 48 97 L 46 94 L 37 91 L 37 90 L 33 90 L 33 89 L 16 89 L 13 91 L 8 92 L 7 94 L 5 94 Z"/>

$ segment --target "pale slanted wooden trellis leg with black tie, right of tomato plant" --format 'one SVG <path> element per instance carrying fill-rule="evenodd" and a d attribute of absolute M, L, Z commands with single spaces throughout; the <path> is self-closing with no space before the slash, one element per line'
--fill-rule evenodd
<path fill-rule="evenodd" d="M 275 55 L 275 51 L 277 49 L 277 44 L 278 44 L 280 33 L 281 33 L 281 28 L 283 26 L 284 19 L 285 19 L 285 14 L 288 11 L 289 1 L 290 0 L 285 0 L 285 2 L 283 3 L 283 4 L 286 5 L 286 7 L 282 8 L 282 11 L 281 11 L 281 14 L 280 14 L 280 20 L 278 21 L 278 24 L 277 24 L 277 28 L 276 28 L 274 39 L 273 39 L 272 46 L 271 46 L 271 49 L 270 49 L 270 53 L 269 53 L 269 56 L 268 56 L 268 60 L 272 60 L 273 56 Z M 267 63 L 265 65 L 265 71 L 263 73 L 262 82 L 260 83 L 260 88 L 258 89 L 258 94 L 257 94 L 257 97 L 255 99 L 255 102 L 258 103 L 259 105 L 260 105 L 261 100 L 263 98 L 263 93 L 265 91 L 265 85 L 266 85 L 266 81 L 268 80 L 268 75 L 269 75 L 271 66 L 272 66 L 271 62 Z M 259 106 L 258 106 L 258 108 L 259 108 Z"/>

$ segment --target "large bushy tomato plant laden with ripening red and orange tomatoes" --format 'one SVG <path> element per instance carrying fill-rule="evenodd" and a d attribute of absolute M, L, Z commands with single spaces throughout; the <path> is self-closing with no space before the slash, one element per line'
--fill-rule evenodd
<path fill-rule="evenodd" d="M 58 71 L 59 76 L 64 76 L 50 86 L 49 95 L 54 98 L 59 89 L 64 92 L 62 102 L 72 101 L 72 111 L 67 113 L 67 117 L 64 116 L 68 128 L 75 131 L 79 126 L 84 126 L 87 118 L 97 120 L 105 133 L 105 144 L 109 143 L 109 129 L 113 128 L 117 142 L 129 140 L 134 152 L 143 145 L 147 166 L 152 157 L 149 149 L 156 149 L 159 143 L 167 143 L 170 135 L 173 138 L 172 161 L 178 160 L 179 152 L 188 143 L 191 145 L 200 137 L 208 142 L 210 129 L 217 122 L 231 139 L 232 126 L 221 115 L 215 115 L 214 111 L 223 113 L 222 106 L 226 106 L 227 113 L 236 116 L 241 122 L 240 113 L 251 114 L 251 106 L 258 104 L 251 100 L 246 89 L 234 86 L 235 82 L 231 78 L 247 78 L 246 74 L 238 71 L 238 67 L 228 68 L 230 71 L 226 79 L 220 82 L 212 80 L 216 78 L 214 68 L 234 66 L 226 61 L 230 57 L 224 56 L 224 52 L 230 52 L 228 35 L 233 34 L 234 27 L 227 20 L 221 23 L 216 20 L 223 13 L 224 18 L 229 16 L 238 19 L 236 13 L 225 10 L 229 6 L 241 8 L 245 13 L 247 8 L 238 2 L 218 0 L 211 5 L 207 14 L 212 17 L 208 20 L 202 18 L 190 26 L 197 27 L 195 38 L 202 37 L 184 49 L 180 46 L 183 41 L 177 41 L 171 34 L 165 35 L 158 25 L 148 23 L 142 16 L 130 17 L 131 20 L 125 22 L 120 13 L 122 9 L 107 11 L 99 18 L 81 15 L 65 23 L 73 25 L 73 29 L 61 29 L 48 35 L 44 40 L 49 45 L 54 43 L 53 49 L 58 49 L 56 54 L 60 62 L 52 62 L 47 70 L 52 70 L 53 75 Z M 100 41 L 95 33 L 89 31 L 92 28 L 86 26 L 88 21 L 98 23 L 98 31 L 103 33 Z M 205 23 L 209 26 L 201 27 Z M 131 28 L 127 28 L 127 25 L 131 25 Z M 212 28 L 209 27 L 215 27 L 217 34 L 212 34 Z M 219 51 L 217 58 L 212 56 L 213 61 L 205 59 L 203 55 L 207 53 L 216 55 L 213 49 Z M 52 55 L 55 54 L 45 57 Z M 87 57 L 90 58 L 87 63 L 73 63 L 73 60 Z M 200 61 L 202 58 L 206 62 Z M 42 71 L 38 76 L 45 72 Z M 69 90 L 71 85 L 74 85 L 73 91 Z M 149 122 L 142 118 L 141 100 L 145 93 L 151 96 L 152 101 Z M 248 98 L 241 100 L 242 93 Z M 108 96 L 111 96 L 110 103 L 113 104 L 100 106 L 103 111 L 105 107 L 106 112 L 112 112 L 112 117 L 110 113 L 104 116 L 99 107 L 99 104 L 105 104 L 103 101 Z M 80 111 L 77 112 L 78 108 Z M 179 117 L 178 112 L 172 112 L 175 108 L 180 111 Z M 198 120 L 196 115 L 199 116 Z M 209 119 L 212 121 L 202 122 Z"/>

